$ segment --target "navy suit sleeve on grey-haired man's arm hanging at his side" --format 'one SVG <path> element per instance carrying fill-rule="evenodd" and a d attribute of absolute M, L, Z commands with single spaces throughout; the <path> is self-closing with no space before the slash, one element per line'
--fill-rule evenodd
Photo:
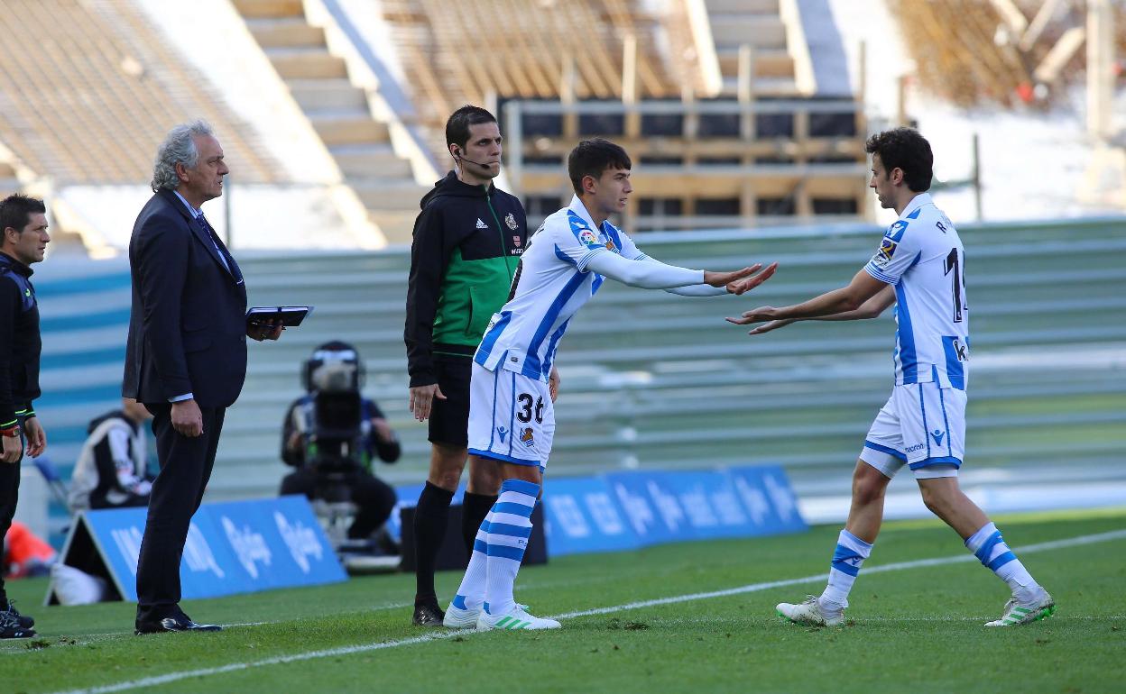
<path fill-rule="evenodd" d="M 141 285 L 145 334 L 157 336 L 149 346 L 166 398 L 193 391 L 180 337 L 180 301 L 188 278 L 191 234 L 170 215 L 153 215 L 141 226 L 133 268 Z"/>

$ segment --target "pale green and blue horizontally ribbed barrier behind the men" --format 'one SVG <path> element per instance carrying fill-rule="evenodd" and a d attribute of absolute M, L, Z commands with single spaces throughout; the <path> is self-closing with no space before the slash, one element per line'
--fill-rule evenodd
<path fill-rule="evenodd" d="M 968 457 L 973 469 L 1047 481 L 1126 475 L 1126 222 L 967 226 L 973 315 Z M 688 299 L 607 282 L 560 351 L 563 388 L 553 475 L 776 462 L 802 494 L 841 493 L 887 397 L 894 322 L 807 323 L 759 337 L 723 321 L 849 280 L 878 232 L 650 234 L 662 260 L 732 268 L 777 260 L 744 298 Z M 272 494 L 286 471 L 279 429 L 301 393 L 301 362 L 332 339 L 357 345 L 366 393 L 399 431 L 402 461 L 379 474 L 418 481 L 426 426 L 406 412 L 402 342 L 408 254 L 242 255 L 250 301 L 316 306 L 278 343 L 250 345 L 250 371 L 224 426 L 208 498 Z M 44 325 L 38 402 L 51 456 L 69 474 L 86 422 L 113 407 L 128 319 L 120 261 L 36 273 Z M 1062 465 L 1061 465 L 1062 463 Z M 1018 467 L 1019 466 L 1019 467 Z"/>

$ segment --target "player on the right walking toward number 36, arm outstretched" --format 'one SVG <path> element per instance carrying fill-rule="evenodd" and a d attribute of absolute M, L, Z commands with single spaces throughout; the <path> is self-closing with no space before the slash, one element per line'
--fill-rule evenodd
<path fill-rule="evenodd" d="M 965 251 L 950 220 L 935 207 L 930 188 L 933 156 L 917 130 L 896 128 L 870 137 L 872 181 L 879 204 L 900 218 L 879 250 L 848 287 L 804 304 L 749 310 L 730 322 L 769 321 L 758 335 L 795 321 L 855 321 L 878 316 L 895 304 L 899 323 L 895 387 L 864 442 L 852 475 L 852 505 L 837 540 L 829 585 L 820 597 L 778 605 L 799 624 L 837 625 L 848 594 L 872 552 L 884 515 L 887 483 L 911 468 L 923 503 L 965 540 L 966 548 L 1004 580 L 1012 598 L 1001 619 L 986 627 L 1012 627 L 1051 616 L 1055 603 L 1009 549 L 1001 532 L 962 489 L 969 376 L 969 306 Z"/>

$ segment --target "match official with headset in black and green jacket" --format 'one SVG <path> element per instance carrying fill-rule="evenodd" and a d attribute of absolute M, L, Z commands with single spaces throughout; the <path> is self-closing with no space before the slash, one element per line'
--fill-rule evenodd
<path fill-rule="evenodd" d="M 519 199 L 493 184 L 501 135 L 488 110 L 464 106 L 446 121 L 446 146 L 456 169 L 421 201 L 411 244 L 406 289 L 406 368 L 410 409 L 429 420 L 430 472 L 414 515 L 415 595 L 412 621 L 440 625 L 434 587 L 449 502 L 466 462 L 470 373 L 489 318 L 508 299 L 528 224 Z M 557 382 L 557 375 L 553 373 Z M 473 547 L 500 487 L 494 462 L 468 457 L 462 534 Z"/>

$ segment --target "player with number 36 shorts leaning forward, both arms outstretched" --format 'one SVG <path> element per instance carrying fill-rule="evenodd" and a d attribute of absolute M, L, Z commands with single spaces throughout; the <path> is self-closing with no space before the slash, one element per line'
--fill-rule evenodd
<path fill-rule="evenodd" d="M 555 629 L 512 600 L 531 533 L 531 510 L 555 434 L 548 375 L 568 323 L 605 278 L 685 296 L 742 294 L 766 281 L 770 265 L 706 272 L 647 258 L 607 222 L 633 188 L 629 156 L 605 139 L 579 143 L 568 157 L 575 196 L 547 217 L 520 259 L 508 303 L 492 316 L 473 357 L 470 453 L 499 462 L 500 498 L 477 531 L 470 566 L 446 610 L 446 627 Z"/>

